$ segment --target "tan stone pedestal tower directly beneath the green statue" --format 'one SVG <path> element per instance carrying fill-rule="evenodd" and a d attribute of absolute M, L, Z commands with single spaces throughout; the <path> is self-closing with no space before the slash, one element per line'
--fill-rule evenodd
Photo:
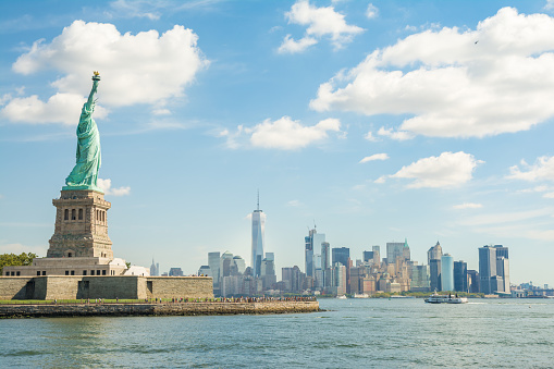
<path fill-rule="evenodd" d="M 102 193 L 64 189 L 52 204 L 58 211 L 47 258 L 113 259 L 112 242 L 108 236 L 108 209 L 111 204 L 103 199 Z"/>

